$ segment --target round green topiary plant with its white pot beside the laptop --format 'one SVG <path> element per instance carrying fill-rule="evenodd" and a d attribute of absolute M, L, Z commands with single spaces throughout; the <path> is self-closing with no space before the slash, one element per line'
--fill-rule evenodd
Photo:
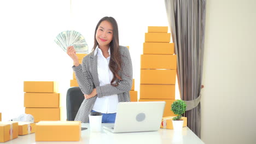
<path fill-rule="evenodd" d="M 175 115 L 178 115 L 174 118 L 172 118 L 172 125 L 173 125 L 173 130 L 182 130 L 183 127 L 183 119 L 182 114 L 186 111 L 187 104 L 183 100 L 176 100 L 172 103 L 172 111 Z"/>

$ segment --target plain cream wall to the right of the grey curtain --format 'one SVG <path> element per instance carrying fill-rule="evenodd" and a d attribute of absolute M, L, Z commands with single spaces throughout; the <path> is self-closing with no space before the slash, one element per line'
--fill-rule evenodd
<path fill-rule="evenodd" d="M 202 131 L 207 143 L 256 143 L 256 3 L 207 1 Z"/>

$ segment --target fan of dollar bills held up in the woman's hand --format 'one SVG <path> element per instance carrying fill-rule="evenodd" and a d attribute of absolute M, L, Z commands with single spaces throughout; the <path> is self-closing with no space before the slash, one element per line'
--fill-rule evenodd
<path fill-rule="evenodd" d="M 88 45 L 83 37 L 77 31 L 64 31 L 57 35 L 54 40 L 62 50 L 67 52 L 68 46 L 74 46 L 77 53 L 88 53 Z"/>

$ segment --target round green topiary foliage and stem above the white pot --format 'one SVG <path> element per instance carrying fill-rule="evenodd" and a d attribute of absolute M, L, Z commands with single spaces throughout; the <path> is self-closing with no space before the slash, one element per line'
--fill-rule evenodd
<path fill-rule="evenodd" d="M 176 100 L 172 103 L 172 111 L 177 117 L 172 118 L 173 121 L 180 121 L 181 115 L 186 111 L 187 104 L 183 100 Z"/>

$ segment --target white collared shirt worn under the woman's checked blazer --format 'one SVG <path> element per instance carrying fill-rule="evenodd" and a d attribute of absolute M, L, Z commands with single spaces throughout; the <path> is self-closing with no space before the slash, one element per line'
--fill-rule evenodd
<path fill-rule="evenodd" d="M 98 70 L 98 80 L 100 81 L 100 86 L 107 85 L 113 79 L 113 73 L 109 69 L 110 60 L 110 48 L 108 49 L 109 57 L 105 58 L 101 49 L 96 47 L 94 55 L 97 55 L 97 70 Z M 97 98 L 92 107 L 92 110 L 101 113 L 115 113 L 117 112 L 118 105 L 118 95 L 108 95 L 103 98 Z"/>

